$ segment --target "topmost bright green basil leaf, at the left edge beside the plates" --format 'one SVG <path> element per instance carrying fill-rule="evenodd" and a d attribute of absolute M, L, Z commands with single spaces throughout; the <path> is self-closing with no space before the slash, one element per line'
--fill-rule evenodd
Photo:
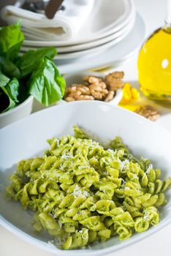
<path fill-rule="evenodd" d="M 0 56 L 14 61 L 23 44 L 23 33 L 20 31 L 20 23 L 4 26 L 0 30 Z"/>

